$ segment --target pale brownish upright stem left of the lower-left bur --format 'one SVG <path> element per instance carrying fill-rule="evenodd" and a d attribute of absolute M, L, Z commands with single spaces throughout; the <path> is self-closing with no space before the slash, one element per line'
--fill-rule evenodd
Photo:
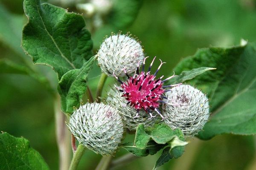
<path fill-rule="evenodd" d="M 55 132 L 59 152 L 59 169 L 67 170 L 70 164 L 70 132 L 65 124 L 66 116 L 61 112 L 60 97 L 55 99 Z"/>

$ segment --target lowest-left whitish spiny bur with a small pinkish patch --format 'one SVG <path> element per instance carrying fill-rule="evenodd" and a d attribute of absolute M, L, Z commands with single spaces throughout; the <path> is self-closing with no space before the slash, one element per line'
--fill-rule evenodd
<path fill-rule="evenodd" d="M 102 103 L 87 103 L 67 124 L 76 139 L 101 155 L 111 155 L 121 142 L 123 124 L 119 111 Z"/>

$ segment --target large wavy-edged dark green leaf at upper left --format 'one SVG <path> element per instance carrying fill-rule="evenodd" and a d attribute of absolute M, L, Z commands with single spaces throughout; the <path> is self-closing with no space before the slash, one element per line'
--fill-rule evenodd
<path fill-rule="evenodd" d="M 29 22 L 21 44 L 35 64 L 52 67 L 61 79 L 90 59 L 93 43 L 80 14 L 40 0 L 24 0 L 23 7 Z"/>

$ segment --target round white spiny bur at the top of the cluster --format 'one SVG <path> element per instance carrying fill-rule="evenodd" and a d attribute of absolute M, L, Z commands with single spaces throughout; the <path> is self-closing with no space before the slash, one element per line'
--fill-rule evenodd
<path fill-rule="evenodd" d="M 136 70 L 137 62 L 144 59 L 142 46 L 128 33 L 111 34 L 103 41 L 97 56 L 102 72 L 108 76 L 113 76 L 112 73 L 115 72 L 121 77 L 125 76 L 123 68 L 130 74 Z"/>

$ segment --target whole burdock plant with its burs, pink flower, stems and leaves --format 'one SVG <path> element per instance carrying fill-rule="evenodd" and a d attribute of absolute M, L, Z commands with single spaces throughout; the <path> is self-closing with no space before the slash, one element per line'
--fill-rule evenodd
<path fill-rule="evenodd" d="M 83 10 L 92 13 L 67 12 L 39 0 L 23 3 L 28 23 L 23 28 L 21 46 L 34 64 L 48 65 L 56 72 L 58 91 L 40 71 L 34 70 L 36 67 L 0 61 L 1 71 L 30 75 L 46 85 L 54 97 L 61 170 L 67 167 L 76 170 L 86 149 L 103 156 L 97 170 L 114 168 L 134 156 L 154 155 L 161 150 L 153 168 L 156 169 L 180 157 L 188 137 L 210 139 L 223 133 L 256 133 L 255 44 L 243 41 L 232 48 L 204 48 L 183 59 L 174 69 L 158 56 L 160 64 L 154 67 L 158 59 L 145 57 L 143 43 L 138 38 L 130 33 L 109 31 L 117 32 L 117 27 L 131 24 L 137 13 L 126 10 L 136 11 L 138 1 L 76 2 L 70 3 L 72 10 L 80 10 L 82 5 Z M 99 32 L 104 32 L 101 29 L 105 26 L 108 36 L 97 51 L 96 47 L 93 49 L 93 40 L 104 37 Z M 9 31 L 12 29 L 6 32 Z M 92 69 L 97 65 L 102 73 Z M 166 75 L 160 75 L 161 67 L 167 67 Z M 93 83 L 88 87 L 87 83 L 97 80 L 100 74 L 97 87 Z M 104 96 L 102 90 L 108 77 Z M 68 141 L 64 140 L 65 134 Z M 115 154 L 121 149 L 134 156 Z M 0 155 L 0 169 L 49 169 L 27 140 L 7 133 L 0 134 Z M 112 161 L 113 156 L 116 158 Z M 91 162 L 89 156 L 86 159 Z"/>

